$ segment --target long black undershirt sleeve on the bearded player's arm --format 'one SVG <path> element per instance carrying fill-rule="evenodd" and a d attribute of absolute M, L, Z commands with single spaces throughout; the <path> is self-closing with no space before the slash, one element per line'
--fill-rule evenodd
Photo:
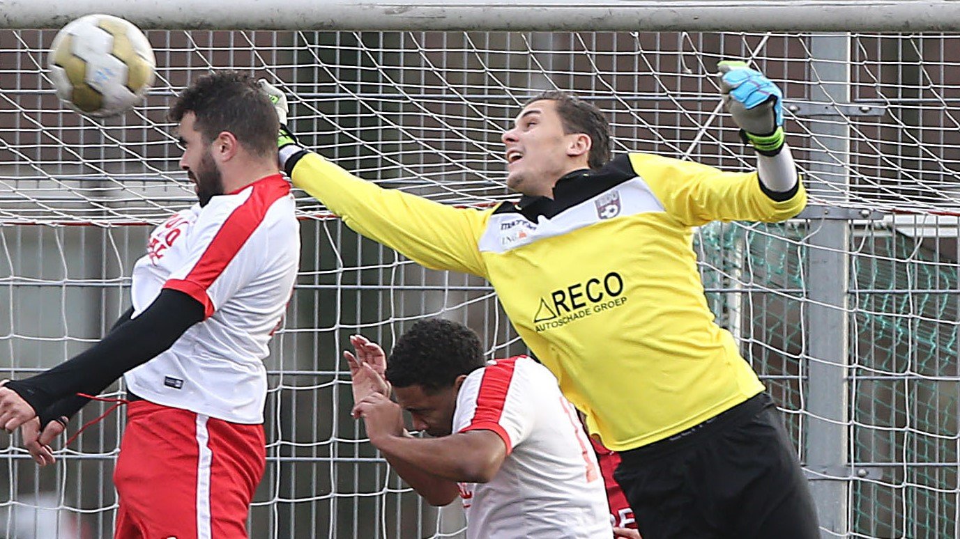
<path fill-rule="evenodd" d="M 85 352 L 34 377 L 8 382 L 6 387 L 49 417 L 47 410 L 61 399 L 72 400 L 78 392 L 95 395 L 103 391 L 123 373 L 170 348 L 203 319 L 204 306 L 199 301 L 165 289 L 140 316 L 115 325 L 107 337 Z M 76 401 L 70 405 L 72 408 Z"/>

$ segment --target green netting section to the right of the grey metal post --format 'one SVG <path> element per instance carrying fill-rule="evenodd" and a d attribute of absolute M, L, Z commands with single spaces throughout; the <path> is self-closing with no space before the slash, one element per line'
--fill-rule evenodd
<path fill-rule="evenodd" d="M 853 484 L 852 528 L 954 537 L 957 268 L 897 233 L 853 243 L 852 452 L 883 479 Z"/>

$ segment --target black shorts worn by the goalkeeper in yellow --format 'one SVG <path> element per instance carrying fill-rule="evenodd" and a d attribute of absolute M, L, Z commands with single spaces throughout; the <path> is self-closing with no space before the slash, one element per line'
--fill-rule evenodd
<path fill-rule="evenodd" d="M 614 478 L 643 539 L 819 539 L 796 449 L 766 393 L 620 453 Z"/>

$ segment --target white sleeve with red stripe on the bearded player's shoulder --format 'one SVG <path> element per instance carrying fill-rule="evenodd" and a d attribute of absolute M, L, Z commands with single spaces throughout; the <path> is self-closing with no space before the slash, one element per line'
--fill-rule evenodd
<path fill-rule="evenodd" d="M 210 205 L 216 202 L 219 200 L 214 198 Z M 263 262 L 264 253 L 257 256 L 262 249 L 250 244 L 265 212 L 262 208 L 255 211 L 254 200 L 229 202 L 204 208 L 186 237 L 183 264 L 171 271 L 163 284 L 165 289 L 179 290 L 199 301 L 204 318 L 250 284 Z"/>

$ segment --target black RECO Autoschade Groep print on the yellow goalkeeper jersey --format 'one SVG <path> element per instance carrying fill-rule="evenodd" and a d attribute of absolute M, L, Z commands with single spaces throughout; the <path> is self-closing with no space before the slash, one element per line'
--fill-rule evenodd
<path fill-rule="evenodd" d="M 534 329 L 538 332 L 555 329 L 616 309 L 627 302 L 623 289 L 623 277 L 616 271 L 557 289 L 540 297 Z"/>

